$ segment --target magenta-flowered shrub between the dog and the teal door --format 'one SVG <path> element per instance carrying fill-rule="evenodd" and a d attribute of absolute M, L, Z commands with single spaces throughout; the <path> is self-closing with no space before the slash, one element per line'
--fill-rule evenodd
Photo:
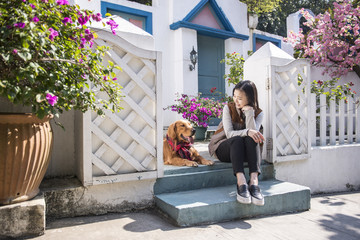
<path fill-rule="evenodd" d="M 199 93 L 197 96 L 186 94 L 176 94 L 175 104 L 165 109 L 170 109 L 182 115 L 184 119 L 190 121 L 195 127 L 208 127 L 211 118 L 220 118 L 224 103 L 212 98 L 202 98 Z"/>

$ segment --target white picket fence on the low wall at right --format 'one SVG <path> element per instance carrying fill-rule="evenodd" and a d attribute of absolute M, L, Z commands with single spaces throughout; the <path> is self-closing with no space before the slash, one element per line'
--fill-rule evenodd
<path fill-rule="evenodd" d="M 360 143 L 360 106 L 353 99 L 326 102 L 326 96 L 311 94 L 311 145 Z"/>

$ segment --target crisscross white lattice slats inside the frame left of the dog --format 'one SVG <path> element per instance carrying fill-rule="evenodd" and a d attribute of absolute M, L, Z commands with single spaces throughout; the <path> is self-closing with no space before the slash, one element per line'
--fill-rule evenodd
<path fill-rule="evenodd" d="M 107 44 L 100 39 L 96 43 Z M 123 110 L 106 112 L 105 117 L 91 114 L 93 177 L 155 171 L 156 59 L 138 57 L 119 46 L 112 46 L 109 53 L 105 62 L 111 60 L 123 70 L 117 72 L 117 81 L 123 86 Z M 107 183 L 106 179 L 102 178 L 102 183 Z"/>

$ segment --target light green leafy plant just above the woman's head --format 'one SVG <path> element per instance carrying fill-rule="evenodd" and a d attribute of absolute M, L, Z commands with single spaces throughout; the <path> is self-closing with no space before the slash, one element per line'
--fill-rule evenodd
<path fill-rule="evenodd" d="M 245 59 L 237 52 L 226 53 L 226 58 L 221 60 L 220 63 L 226 63 L 230 67 L 230 73 L 225 74 L 224 78 L 230 83 L 237 84 L 244 78 L 244 62 Z"/>

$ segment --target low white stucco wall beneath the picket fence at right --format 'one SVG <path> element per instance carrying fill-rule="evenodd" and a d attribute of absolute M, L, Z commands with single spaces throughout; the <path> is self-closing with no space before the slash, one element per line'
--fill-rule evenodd
<path fill-rule="evenodd" d="M 276 163 L 275 178 L 301 184 L 312 193 L 360 190 L 360 144 L 314 147 L 311 158 Z"/>

